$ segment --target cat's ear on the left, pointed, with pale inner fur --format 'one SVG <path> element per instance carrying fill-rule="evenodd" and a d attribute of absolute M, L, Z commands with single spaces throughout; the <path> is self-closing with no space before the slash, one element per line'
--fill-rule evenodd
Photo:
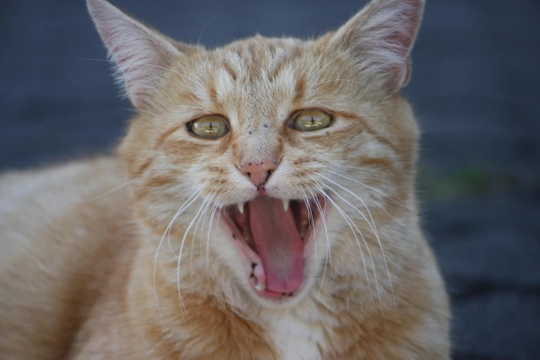
<path fill-rule="evenodd" d="M 150 106 L 164 72 L 174 59 L 183 56 L 181 46 L 106 0 L 87 3 L 97 31 L 117 64 L 117 77 L 128 98 L 136 108 Z"/>

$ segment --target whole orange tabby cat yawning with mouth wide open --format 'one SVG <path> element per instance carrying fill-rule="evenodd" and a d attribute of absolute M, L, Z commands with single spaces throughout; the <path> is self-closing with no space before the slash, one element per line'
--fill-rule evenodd
<path fill-rule="evenodd" d="M 0 359 L 450 359 L 399 94 L 424 0 L 207 50 L 88 0 L 137 116 L 0 177 Z"/>

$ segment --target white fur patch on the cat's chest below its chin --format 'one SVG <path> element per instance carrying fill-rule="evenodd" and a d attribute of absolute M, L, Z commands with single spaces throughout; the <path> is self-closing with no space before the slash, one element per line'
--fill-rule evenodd
<path fill-rule="evenodd" d="M 321 321 L 284 313 L 268 317 L 268 335 L 281 360 L 321 360 L 326 342 Z"/>

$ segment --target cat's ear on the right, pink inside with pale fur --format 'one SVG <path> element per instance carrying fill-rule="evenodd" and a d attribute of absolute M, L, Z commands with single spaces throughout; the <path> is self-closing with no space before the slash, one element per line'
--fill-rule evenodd
<path fill-rule="evenodd" d="M 338 53 L 350 52 L 377 86 L 397 91 L 410 78 L 410 50 L 425 0 L 372 0 L 330 39 Z"/>

